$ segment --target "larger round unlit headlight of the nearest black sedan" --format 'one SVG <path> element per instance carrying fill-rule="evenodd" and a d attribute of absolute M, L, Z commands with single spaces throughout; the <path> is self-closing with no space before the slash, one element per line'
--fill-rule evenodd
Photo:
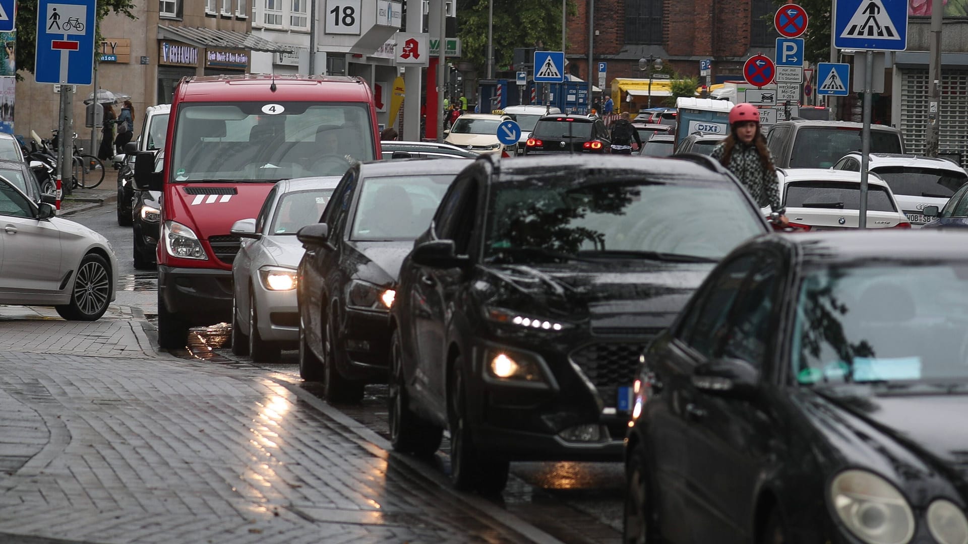
<path fill-rule="evenodd" d="M 914 514 L 890 482 L 865 470 L 844 470 L 831 483 L 833 510 L 868 544 L 905 544 L 914 535 Z"/>

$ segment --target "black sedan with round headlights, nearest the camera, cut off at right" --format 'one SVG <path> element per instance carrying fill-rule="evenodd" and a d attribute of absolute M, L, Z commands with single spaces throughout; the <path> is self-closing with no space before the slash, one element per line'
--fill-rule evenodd
<path fill-rule="evenodd" d="M 643 355 L 624 542 L 964 543 L 968 234 L 763 236 Z"/>

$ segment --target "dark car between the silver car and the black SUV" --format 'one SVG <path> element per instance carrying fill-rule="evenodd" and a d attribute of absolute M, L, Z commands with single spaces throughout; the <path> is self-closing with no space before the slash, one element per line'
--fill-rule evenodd
<path fill-rule="evenodd" d="M 348 169 L 319 223 L 296 234 L 299 374 L 331 401 L 354 403 L 386 380 L 389 310 L 400 262 L 427 229 L 457 172 L 455 159 L 367 163 Z"/>

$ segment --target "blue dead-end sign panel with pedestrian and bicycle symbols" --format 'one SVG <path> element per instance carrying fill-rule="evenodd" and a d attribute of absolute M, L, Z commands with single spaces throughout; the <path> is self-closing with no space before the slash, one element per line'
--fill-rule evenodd
<path fill-rule="evenodd" d="M 91 84 L 95 11 L 95 0 L 38 2 L 34 72 L 38 83 Z"/>

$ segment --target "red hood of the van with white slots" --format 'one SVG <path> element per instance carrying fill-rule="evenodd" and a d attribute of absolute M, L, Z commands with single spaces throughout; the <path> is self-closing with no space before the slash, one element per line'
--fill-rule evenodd
<path fill-rule="evenodd" d="M 188 217 L 187 227 L 195 229 L 199 238 L 228 234 L 232 224 L 240 219 L 254 218 L 272 190 L 272 183 L 188 183 L 173 187 L 180 207 L 178 213 L 165 214 L 166 219 Z M 234 195 L 226 195 L 234 191 Z M 197 193 L 197 194 L 196 194 Z M 167 202 L 166 202 L 167 205 Z"/>

